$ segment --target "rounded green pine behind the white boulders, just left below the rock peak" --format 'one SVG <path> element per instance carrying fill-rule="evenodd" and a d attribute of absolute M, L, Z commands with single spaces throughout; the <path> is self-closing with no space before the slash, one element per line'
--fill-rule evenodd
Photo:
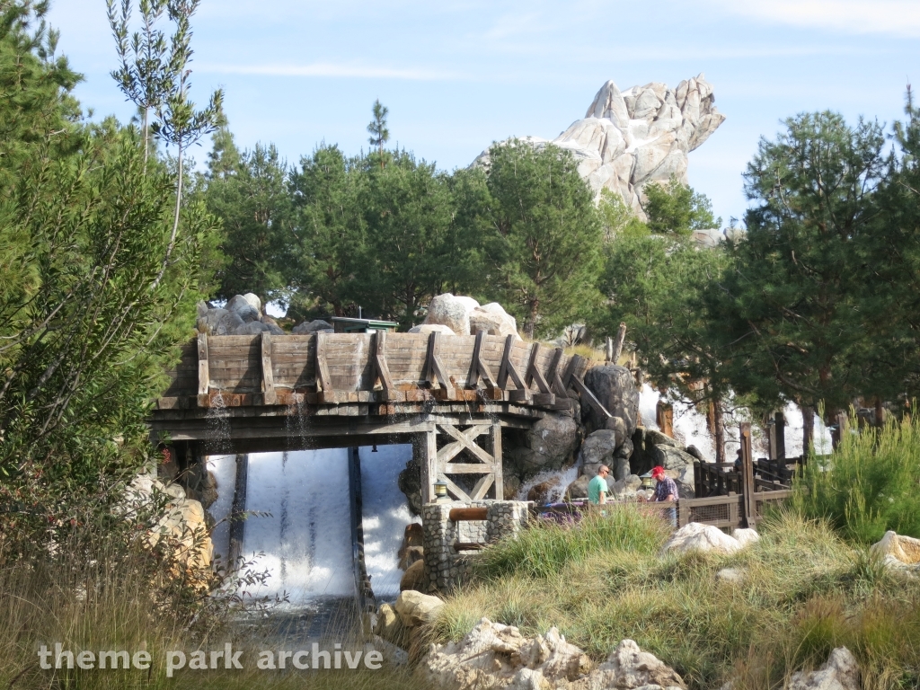
<path fill-rule="evenodd" d="M 528 337 L 558 333 L 600 299 L 604 230 L 592 192 L 556 146 L 514 140 L 489 157 L 489 277 Z"/>

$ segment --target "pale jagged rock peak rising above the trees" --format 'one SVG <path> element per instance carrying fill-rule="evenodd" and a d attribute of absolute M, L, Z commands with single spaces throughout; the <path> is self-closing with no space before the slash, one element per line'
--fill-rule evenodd
<path fill-rule="evenodd" d="M 712 85 L 701 73 L 675 88 L 661 82 L 620 91 L 608 81 L 581 120 L 572 122 L 551 142 L 522 137 L 535 146 L 555 144 L 568 149 L 579 173 L 595 195 L 620 194 L 641 218 L 642 189 L 672 177 L 687 184 L 687 155 L 715 132 L 725 116 L 715 106 Z M 475 165 L 489 165 L 489 152 Z"/>

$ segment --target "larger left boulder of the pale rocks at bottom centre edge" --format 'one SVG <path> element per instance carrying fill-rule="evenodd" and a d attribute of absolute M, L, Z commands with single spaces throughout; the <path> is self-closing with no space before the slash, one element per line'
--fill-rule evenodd
<path fill-rule="evenodd" d="M 482 618 L 459 642 L 431 645 L 416 677 L 432 690 L 562 688 L 591 670 L 591 661 L 555 627 L 525 638 L 516 627 Z"/>

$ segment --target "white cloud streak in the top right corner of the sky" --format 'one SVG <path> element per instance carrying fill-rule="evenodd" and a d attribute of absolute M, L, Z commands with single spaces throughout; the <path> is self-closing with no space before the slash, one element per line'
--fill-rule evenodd
<path fill-rule="evenodd" d="M 916 0 L 709 0 L 732 14 L 852 33 L 920 36 Z"/>

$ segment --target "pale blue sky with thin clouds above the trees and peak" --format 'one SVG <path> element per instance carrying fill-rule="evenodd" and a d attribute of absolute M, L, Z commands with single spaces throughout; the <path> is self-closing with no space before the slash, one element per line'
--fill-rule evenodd
<path fill-rule="evenodd" d="M 49 18 L 84 108 L 129 120 L 105 0 L 52 0 Z M 223 88 L 236 143 L 276 144 L 291 164 L 324 142 L 366 149 L 375 98 L 391 144 L 451 170 L 512 135 L 555 138 L 608 79 L 703 72 L 727 120 L 689 178 L 724 224 L 784 119 L 830 109 L 890 131 L 920 79 L 920 0 L 201 0 L 192 27 L 192 98 Z"/>

